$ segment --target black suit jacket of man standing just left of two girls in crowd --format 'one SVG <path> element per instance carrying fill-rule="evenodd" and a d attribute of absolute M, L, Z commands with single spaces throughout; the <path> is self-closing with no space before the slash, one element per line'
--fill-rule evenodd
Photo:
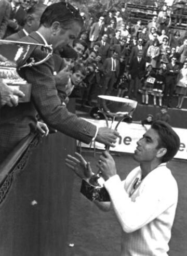
<path fill-rule="evenodd" d="M 138 58 L 132 58 L 129 66 L 129 71 L 132 79 L 135 79 L 137 76 L 139 79 L 143 78 L 145 74 L 145 64 L 146 61 L 144 58 L 141 58 L 140 62 L 138 62 Z"/>

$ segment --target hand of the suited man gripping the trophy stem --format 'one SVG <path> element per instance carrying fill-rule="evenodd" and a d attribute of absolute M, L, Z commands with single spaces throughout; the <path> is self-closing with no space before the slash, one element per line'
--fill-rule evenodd
<path fill-rule="evenodd" d="M 115 147 L 115 143 L 119 137 L 119 133 L 116 130 L 112 130 L 108 127 L 100 127 L 96 136 L 96 142 L 100 142 L 110 147 Z"/>

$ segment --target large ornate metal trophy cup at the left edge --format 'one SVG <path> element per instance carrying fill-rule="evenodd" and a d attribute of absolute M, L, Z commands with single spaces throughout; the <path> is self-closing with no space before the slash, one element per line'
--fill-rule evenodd
<path fill-rule="evenodd" d="M 45 58 L 37 62 L 30 57 L 36 48 L 46 53 Z M 51 55 L 52 47 L 49 45 L 0 40 L 0 81 L 12 89 L 18 88 L 24 93 L 25 96 L 19 99 L 19 102 L 30 101 L 31 84 L 19 76 L 17 69 L 37 66 L 45 62 Z"/>

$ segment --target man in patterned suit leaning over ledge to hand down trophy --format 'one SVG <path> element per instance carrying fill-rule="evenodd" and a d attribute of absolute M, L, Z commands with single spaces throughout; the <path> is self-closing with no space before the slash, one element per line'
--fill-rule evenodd
<path fill-rule="evenodd" d="M 71 44 L 78 36 L 83 25 L 79 12 L 68 3 L 52 4 L 46 8 L 41 18 L 41 25 L 36 32 L 23 37 L 29 43 L 52 44 L 54 49 L 61 49 Z M 35 61 L 46 57 L 43 48 L 30 49 L 26 59 Z M 36 111 L 44 122 L 54 129 L 85 143 L 92 139 L 114 146 L 118 133 L 106 127 L 97 129 L 95 125 L 78 118 L 61 105 L 57 95 L 54 62 L 49 58 L 38 66 L 25 67 L 19 74 L 32 84 L 31 101 L 18 104 L 16 108 L 5 106 L 0 111 L 0 162 L 11 152 L 22 138 L 36 130 Z"/>

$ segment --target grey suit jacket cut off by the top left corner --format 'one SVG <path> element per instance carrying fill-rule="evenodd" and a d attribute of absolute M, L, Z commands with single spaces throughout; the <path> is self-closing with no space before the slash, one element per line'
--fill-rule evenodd
<path fill-rule="evenodd" d="M 3 39 L 5 35 L 8 19 L 10 17 L 10 10 L 11 10 L 11 6 L 8 0 L 1 0 L 0 1 L 0 39 Z"/>

